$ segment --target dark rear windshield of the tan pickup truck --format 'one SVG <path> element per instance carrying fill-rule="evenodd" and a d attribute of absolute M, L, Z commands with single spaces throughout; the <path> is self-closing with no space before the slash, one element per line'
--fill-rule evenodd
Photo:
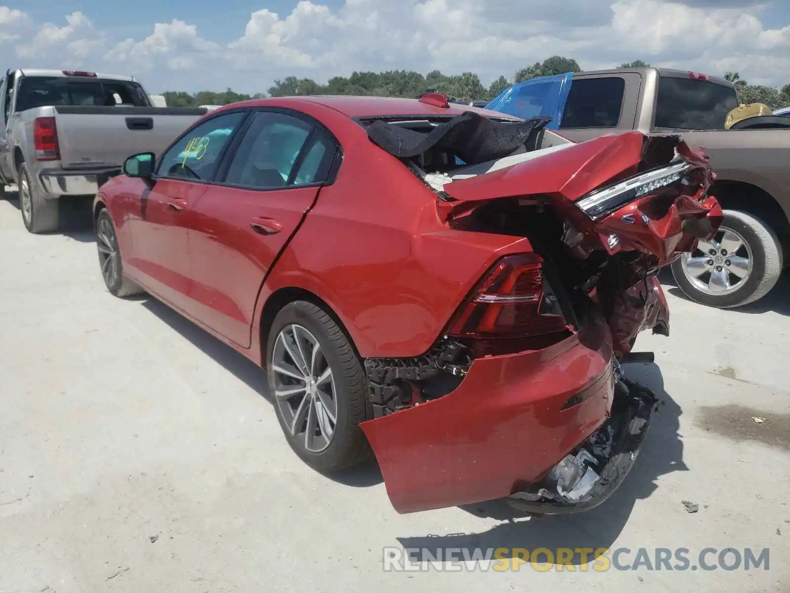
<path fill-rule="evenodd" d="M 661 77 L 655 127 L 724 130 L 727 114 L 738 107 L 735 90 L 714 82 Z"/>

